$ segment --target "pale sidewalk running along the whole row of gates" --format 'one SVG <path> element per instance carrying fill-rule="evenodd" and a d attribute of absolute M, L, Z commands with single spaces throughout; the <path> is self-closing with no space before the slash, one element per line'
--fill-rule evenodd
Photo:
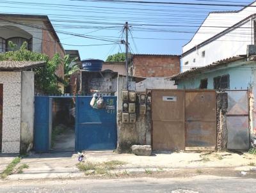
<path fill-rule="evenodd" d="M 115 169 L 116 172 L 145 173 L 150 171 L 177 171 L 179 169 L 204 169 L 214 167 L 227 167 L 244 171 L 255 169 L 256 155 L 243 153 L 153 153 L 150 157 L 140 157 L 133 154 L 117 154 L 113 151 L 86 151 L 85 162 L 103 163 L 111 160 L 125 162 L 123 166 Z M 0 157 L 0 163 L 5 160 L 3 166 L 12 162 L 12 158 Z M 22 158 L 17 167 L 28 164 L 28 169 L 23 169 L 22 174 L 12 174 L 8 180 L 46 179 L 46 178 L 81 178 L 84 172 L 77 169 L 77 154 L 73 153 L 42 153 L 31 154 Z"/>

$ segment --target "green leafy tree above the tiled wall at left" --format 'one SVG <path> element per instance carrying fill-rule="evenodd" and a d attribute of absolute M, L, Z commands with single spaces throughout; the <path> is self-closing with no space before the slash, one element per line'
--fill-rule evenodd
<path fill-rule="evenodd" d="M 15 44 L 9 42 L 10 46 L 15 47 Z M 60 94 L 58 81 L 55 72 L 59 65 L 63 62 L 59 54 L 55 54 L 52 59 L 49 59 L 45 54 L 39 52 L 31 52 L 27 50 L 27 42 L 24 42 L 19 50 L 4 52 L 0 54 L 0 61 L 45 61 L 44 67 L 34 69 L 35 72 L 35 87 L 47 94 Z"/>

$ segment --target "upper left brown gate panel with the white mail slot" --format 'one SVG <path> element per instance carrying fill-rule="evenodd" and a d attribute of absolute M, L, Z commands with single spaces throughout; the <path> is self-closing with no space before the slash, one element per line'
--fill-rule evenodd
<path fill-rule="evenodd" d="M 152 91 L 152 120 L 184 121 L 184 91 Z"/>

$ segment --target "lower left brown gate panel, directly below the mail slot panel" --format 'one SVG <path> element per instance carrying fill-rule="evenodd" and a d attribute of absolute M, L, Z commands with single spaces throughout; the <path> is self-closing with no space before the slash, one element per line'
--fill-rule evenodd
<path fill-rule="evenodd" d="M 159 151 L 184 150 L 184 122 L 153 121 L 152 149 Z"/>

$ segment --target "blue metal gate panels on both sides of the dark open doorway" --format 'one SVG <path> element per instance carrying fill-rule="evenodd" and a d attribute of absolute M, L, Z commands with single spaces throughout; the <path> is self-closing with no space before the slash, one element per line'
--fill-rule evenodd
<path fill-rule="evenodd" d="M 103 98 L 106 109 L 93 109 L 90 106 L 92 96 L 76 96 L 76 151 L 116 148 L 116 96 Z M 50 99 L 51 96 L 35 96 L 34 149 L 36 152 L 49 151 Z"/>

